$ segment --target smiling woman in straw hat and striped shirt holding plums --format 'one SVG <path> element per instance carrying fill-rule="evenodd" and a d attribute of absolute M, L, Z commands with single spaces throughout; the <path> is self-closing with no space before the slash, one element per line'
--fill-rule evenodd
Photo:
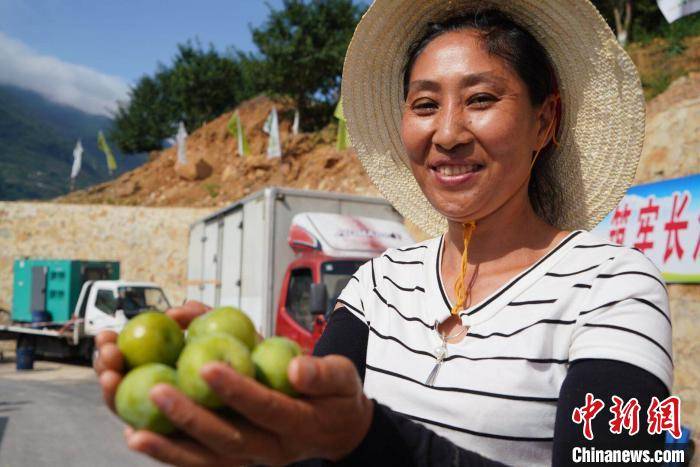
<path fill-rule="evenodd" d="M 634 67 L 587 0 L 479 4 L 377 2 L 346 57 L 360 159 L 435 238 L 359 269 L 316 348 L 328 356 L 289 369 L 305 397 L 212 364 L 203 376 L 241 421 L 158 386 L 153 400 L 190 438 L 128 430 L 132 449 L 188 465 L 562 465 L 583 445 L 661 447 L 644 410 L 635 436 L 608 422 L 614 395 L 644 408 L 668 395 L 663 282 L 641 253 L 577 230 L 634 175 Z M 186 326 L 203 310 L 171 314 Z M 98 338 L 110 404 L 114 339 Z M 573 421 L 586 393 L 606 404 L 590 442 Z"/>

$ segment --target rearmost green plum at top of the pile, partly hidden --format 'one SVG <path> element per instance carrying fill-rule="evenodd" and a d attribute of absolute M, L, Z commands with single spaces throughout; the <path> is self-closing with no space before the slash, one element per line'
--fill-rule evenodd
<path fill-rule="evenodd" d="M 215 308 L 195 318 L 187 328 L 187 341 L 217 332 L 235 337 L 249 350 L 253 350 L 257 344 L 253 322 L 241 310 L 230 306 Z"/>

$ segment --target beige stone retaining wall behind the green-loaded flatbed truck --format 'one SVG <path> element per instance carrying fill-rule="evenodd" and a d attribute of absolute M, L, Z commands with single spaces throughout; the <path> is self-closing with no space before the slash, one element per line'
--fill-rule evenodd
<path fill-rule="evenodd" d="M 12 303 L 15 258 L 112 260 L 125 280 L 185 299 L 189 226 L 211 209 L 0 202 L 0 308 Z"/>

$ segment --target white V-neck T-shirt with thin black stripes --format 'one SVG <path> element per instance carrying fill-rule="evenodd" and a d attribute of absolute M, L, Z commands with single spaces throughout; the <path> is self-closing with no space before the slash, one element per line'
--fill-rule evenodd
<path fill-rule="evenodd" d="M 466 337 L 447 345 L 426 384 L 442 344 L 435 322 L 451 309 L 443 242 L 387 250 L 338 299 L 369 328 L 369 397 L 487 458 L 545 465 L 569 362 L 630 363 L 670 390 L 671 321 L 659 271 L 639 251 L 585 231 L 464 310 Z"/>

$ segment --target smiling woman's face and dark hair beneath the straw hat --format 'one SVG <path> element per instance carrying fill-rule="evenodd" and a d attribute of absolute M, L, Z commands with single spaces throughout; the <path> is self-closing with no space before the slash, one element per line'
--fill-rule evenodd
<path fill-rule="evenodd" d="M 503 187 L 519 189 L 525 183 L 523 180 L 529 180 L 530 204 L 543 219 L 555 222 L 558 180 L 551 174 L 551 165 L 543 161 L 554 145 L 559 96 L 554 69 L 542 46 L 505 15 L 491 10 L 430 25 L 427 34 L 409 49 L 408 57 L 403 80 L 406 108 L 401 135 L 411 169 L 423 192 L 434 186 L 452 187 L 452 192 L 465 194 L 459 186 L 487 165 L 485 156 L 478 154 L 479 141 L 489 145 L 493 153 L 491 165 L 495 166 L 494 170 L 500 169 L 493 176 L 502 179 L 485 184 L 498 190 L 500 199 L 493 193 L 481 193 L 481 200 L 453 203 L 462 211 L 469 209 L 469 204 L 488 211 L 503 204 L 503 196 L 509 195 Z M 460 113 L 451 112 L 447 108 L 451 105 Z M 438 112 L 440 108 L 442 112 Z M 454 119 L 439 120 L 447 117 Z M 469 124 L 460 128 L 459 122 L 464 120 Z M 493 121 L 499 124 L 494 125 Z M 471 131 L 465 131 L 466 128 Z M 433 131 L 437 133 L 433 140 L 441 151 L 429 159 L 422 157 L 421 145 Z M 512 135 L 534 140 L 513 140 Z M 455 146 L 460 146 L 465 157 L 455 160 L 449 156 L 449 150 Z M 535 150 L 532 162 L 527 164 L 529 148 Z M 534 157 L 535 154 L 538 156 Z M 433 173 L 422 172 L 421 164 L 427 164 Z M 508 173 L 503 173 L 505 167 Z M 533 177 L 529 177 L 530 168 Z M 428 176 L 436 177 L 438 183 L 426 183 Z M 426 196 L 430 199 L 430 195 Z M 485 198 L 490 203 L 484 202 Z"/>

